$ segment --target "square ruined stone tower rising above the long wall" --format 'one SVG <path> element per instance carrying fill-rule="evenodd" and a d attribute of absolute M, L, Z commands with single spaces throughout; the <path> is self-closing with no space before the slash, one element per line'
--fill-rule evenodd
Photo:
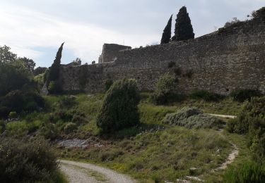
<path fill-rule="evenodd" d="M 123 46 L 119 44 L 104 44 L 102 54 L 98 58 L 98 63 L 112 62 L 117 58 L 119 51 L 124 49 L 131 49 L 130 46 Z"/>

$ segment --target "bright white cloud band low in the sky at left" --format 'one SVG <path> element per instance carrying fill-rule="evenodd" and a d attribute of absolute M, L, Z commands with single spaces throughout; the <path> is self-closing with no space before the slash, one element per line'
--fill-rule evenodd
<path fill-rule="evenodd" d="M 92 24 L 72 23 L 59 20 L 57 17 L 39 13 L 28 8 L 8 5 L 1 7 L 0 44 L 11 46 L 18 56 L 27 56 L 37 60 L 43 53 L 35 47 L 54 47 L 66 42 L 65 48 L 73 55 L 90 63 L 98 58 L 102 44 L 117 43 L 131 46 L 155 42 L 158 35 L 120 34 Z M 68 61 L 70 62 L 70 61 Z"/>

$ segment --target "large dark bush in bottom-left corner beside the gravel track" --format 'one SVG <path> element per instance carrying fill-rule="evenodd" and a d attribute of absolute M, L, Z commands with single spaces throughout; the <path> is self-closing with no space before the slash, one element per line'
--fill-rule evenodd
<path fill-rule="evenodd" d="M 44 139 L 0 137 L 0 182 L 52 182 L 57 156 Z"/>

